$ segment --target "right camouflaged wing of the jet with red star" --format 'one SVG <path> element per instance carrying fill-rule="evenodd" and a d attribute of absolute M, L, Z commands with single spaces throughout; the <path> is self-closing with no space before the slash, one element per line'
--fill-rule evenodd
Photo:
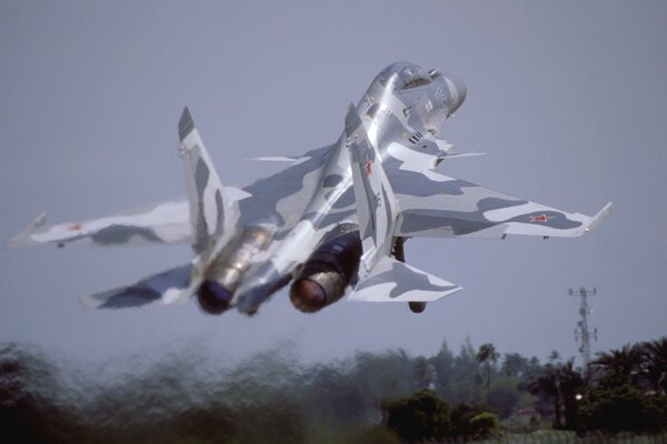
<path fill-rule="evenodd" d="M 400 206 L 395 235 L 407 238 L 578 238 L 611 210 L 608 203 L 594 216 L 568 213 L 434 171 L 388 174 Z"/>

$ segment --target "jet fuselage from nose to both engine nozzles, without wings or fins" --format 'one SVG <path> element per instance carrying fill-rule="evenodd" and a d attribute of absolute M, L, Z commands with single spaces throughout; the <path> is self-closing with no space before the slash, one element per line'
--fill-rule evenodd
<path fill-rule="evenodd" d="M 411 144 L 417 155 L 428 157 L 435 167 L 432 155 L 444 155 L 449 148 L 444 141 L 438 143 L 440 129 L 465 98 L 466 88 L 460 81 L 435 70 L 426 72 L 416 64 L 398 62 L 376 77 L 356 108 L 362 115 L 371 143 L 378 147 L 384 158 L 390 158 L 388 149 L 391 143 L 401 147 Z M 354 280 L 347 269 L 356 270 L 361 250 L 351 248 L 355 253 L 346 254 L 341 264 L 337 263 L 338 256 L 334 254 L 328 268 L 322 265 L 321 260 L 308 260 L 316 245 L 335 231 L 338 223 L 347 220 L 355 223 L 356 208 L 345 143 L 344 132 L 336 143 L 303 162 L 303 186 L 287 196 L 286 206 L 291 206 L 291 210 L 286 214 L 276 208 L 270 215 L 279 220 L 282 230 L 267 229 L 266 223 L 261 222 L 267 219 L 266 213 L 257 214 L 257 223 L 249 222 L 235 238 L 232 253 L 229 244 L 221 249 L 207 270 L 199 290 L 200 304 L 208 312 L 217 313 L 237 306 L 241 312 L 253 313 L 295 276 L 297 280 L 290 297 L 295 306 L 303 311 L 315 311 L 340 299 L 347 284 Z M 251 189 L 252 185 L 247 190 L 252 193 Z M 308 199 L 297 202 L 300 193 Z M 240 203 L 243 209 L 243 202 Z M 257 205 L 257 202 L 252 202 L 252 205 Z M 331 231 L 322 230 L 329 225 L 332 226 Z M 268 240 L 270 245 L 267 243 L 267 232 L 271 233 Z M 261 240 L 258 241 L 257 236 Z M 347 234 L 349 238 L 350 234 Z M 243 255 L 238 252 L 247 251 L 252 251 L 253 258 L 237 260 L 237 256 Z M 259 265 L 251 266 L 250 262 Z M 312 269 L 315 263 L 319 273 L 305 278 L 300 268 L 306 264 L 306 268 Z M 341 265 L 346 272 L 339 270 Z M 339 282 L 340 276 L 345 276 L 344 285 Z M 327 289 L 328 282 L 336 284 Z M 332 292 L 335 294 L 330 294 Z"/>

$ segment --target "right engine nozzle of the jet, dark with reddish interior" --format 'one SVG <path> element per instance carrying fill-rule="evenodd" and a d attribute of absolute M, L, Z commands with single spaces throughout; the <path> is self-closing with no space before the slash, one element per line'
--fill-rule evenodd
<path fill-rule="evenodd" d="M 339 225 L 325 234 L 290 287 L 292 305 L 313 313 L 338 301 L 356 274 L 360 259 L 357 225 Z"/>

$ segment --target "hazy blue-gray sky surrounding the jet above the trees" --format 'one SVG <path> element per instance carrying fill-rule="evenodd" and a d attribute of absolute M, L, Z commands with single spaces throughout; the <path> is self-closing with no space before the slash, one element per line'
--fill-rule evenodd
<path fill-rule="evenodd" d="M 404 347 L 577 355 L 595 286 L 593 351 L 667 334 L 667 3 L 664 1 L 86 2 L 0 4 L 0 240 L 185 198 L 177 122 L 189 105 L 221 180 L 245 161 L 332 143 L 386 65 L 454 72 L 466 102 L 440 172 L 609 218 L 583 239 L 410 240 L 408 262 L 464 286 L 416 315 L 339 301 L 258 315 L 183 306 L 90 311 L 79 296 L 187 263 L 189 245 L 0 251 L 0 342 L 79 362 L 200 350 L 229 362 L 291 347 L 305 361 Z"/>

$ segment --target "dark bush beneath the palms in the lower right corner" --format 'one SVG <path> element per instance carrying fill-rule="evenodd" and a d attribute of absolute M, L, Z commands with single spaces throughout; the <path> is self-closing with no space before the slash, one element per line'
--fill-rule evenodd
<path fill-rule="evenodd" d="M 590 390 L 581 400 L 579 417 L 583 430 L 636 433 L 665 431 L 667 396 L 646 395 L 630 384 Z"/>

